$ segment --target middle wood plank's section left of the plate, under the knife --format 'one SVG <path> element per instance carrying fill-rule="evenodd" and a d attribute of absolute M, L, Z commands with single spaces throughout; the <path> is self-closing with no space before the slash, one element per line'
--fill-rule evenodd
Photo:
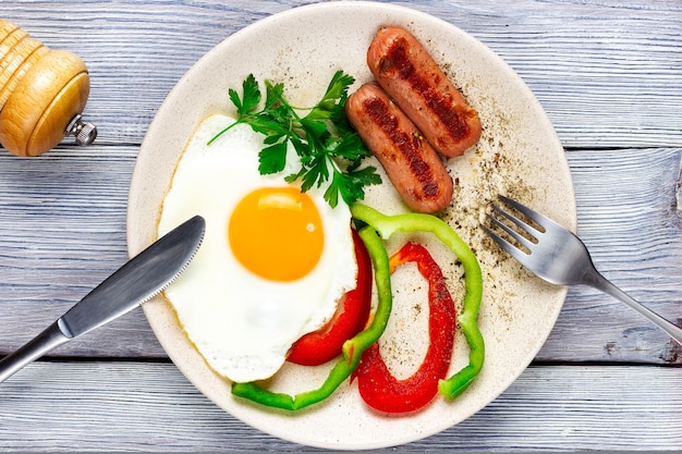
<path fill-rule="evenodd" d="M 137 147 L 0 155 L 0 353 L 12 352 L 127 260 L 125 211 Z M 142 310 L 57 355 L 166 354 Z"/>

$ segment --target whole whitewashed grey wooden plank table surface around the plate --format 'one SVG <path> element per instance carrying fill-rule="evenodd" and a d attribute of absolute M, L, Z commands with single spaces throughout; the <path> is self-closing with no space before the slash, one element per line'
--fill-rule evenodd
<path fill-rule="evenodd" d="M 126 260 L 127 191 L 168 91 L 232 33 L 300 0 L 3 0 L 0 17 L 87 64 L 90 147 L 0 150 L 0 355 Z M 573 175 L 597 267 L 682 322 L 682 3 L 415 0 L 502 57 L 535 93 Z M 295 30 L 294 30 L 295 33 Z M 324 33 L 324 29 L 320 29 Z M 681 200 L 682 201 L 682 200 Z M 533 364 L 497 400 L 397 451 L 682 447 L 682 348 L 623 304 L 572 287 Z M 190 384 L 142 310 L 0 385 L 0 451 L 306 451 Z"/>

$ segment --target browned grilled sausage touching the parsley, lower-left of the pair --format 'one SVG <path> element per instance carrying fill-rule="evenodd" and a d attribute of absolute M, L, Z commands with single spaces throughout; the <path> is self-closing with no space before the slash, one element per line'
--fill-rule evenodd
<path fill-rule="evenodd" d="M 450 204 L 452 179 L 440 156 L 381 87 L 360 87 L 346 100 L 345 113 L 410 208 L 436 212 Z"/>

